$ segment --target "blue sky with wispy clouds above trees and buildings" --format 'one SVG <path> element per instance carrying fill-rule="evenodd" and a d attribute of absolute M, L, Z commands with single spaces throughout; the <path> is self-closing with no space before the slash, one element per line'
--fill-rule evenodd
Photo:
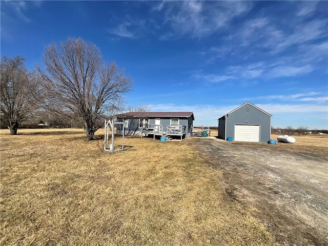
<path fill-rule="evenodd" d="M 32 69 L 68 37 L 125 68 L 130 106 L 217 126 L 250 101 L 273 127 L 328 129 L 327 1 L 1 1 L 1 56 Z"/>

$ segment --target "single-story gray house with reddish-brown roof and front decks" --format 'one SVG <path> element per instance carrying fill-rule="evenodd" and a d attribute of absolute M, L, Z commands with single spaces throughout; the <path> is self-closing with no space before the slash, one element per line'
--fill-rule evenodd
<path fill-rule="evenodd" d="M 193 129 L 193 112 L 127 112 L 116 115 L 117 121 L 124 121 L 127 135 L 157 135 L 190 137 Z M 118 125 L 117 134 L 123 126 Z"/>

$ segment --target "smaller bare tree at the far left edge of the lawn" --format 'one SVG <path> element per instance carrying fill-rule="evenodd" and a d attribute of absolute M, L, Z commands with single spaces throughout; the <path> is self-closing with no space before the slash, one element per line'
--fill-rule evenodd
<path fill-rule="evenodd" d="M 24 66 L 24 58 L 1 59 L 1 120 L 17 134 L 19 124 L 31 117 L 35 106 L 31 96 L 31 75 Z"/>

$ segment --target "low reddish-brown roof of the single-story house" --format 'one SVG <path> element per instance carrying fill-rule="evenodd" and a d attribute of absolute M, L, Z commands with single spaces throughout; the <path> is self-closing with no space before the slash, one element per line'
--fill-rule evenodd
<path fill-rule="evenodd" d="M 127 112 L 116 115 L 117 118 L 142 118 L 142 117 L 192 117 L 193 112 Z"/>

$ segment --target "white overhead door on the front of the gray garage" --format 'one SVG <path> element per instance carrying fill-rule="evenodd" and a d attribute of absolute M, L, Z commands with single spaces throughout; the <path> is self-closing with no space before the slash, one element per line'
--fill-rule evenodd
<path fill-rule="evenodd" d="M 235 141 L 259 142 L 260 126 L 235 125 Z"/>

